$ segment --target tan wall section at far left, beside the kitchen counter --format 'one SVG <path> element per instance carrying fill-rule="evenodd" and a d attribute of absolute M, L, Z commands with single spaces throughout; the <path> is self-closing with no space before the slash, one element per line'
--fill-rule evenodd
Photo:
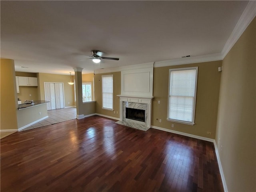
<path fill-rule="evenodd" d="M 14 60 L 0 60 L 0 129 L 17 129 L 18 108 Z"/>

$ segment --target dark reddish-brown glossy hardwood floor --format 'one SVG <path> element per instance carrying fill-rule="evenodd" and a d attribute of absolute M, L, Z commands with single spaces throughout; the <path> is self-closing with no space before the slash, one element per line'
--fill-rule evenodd
<path fill-rule="evenodd" d="M 214 144 L 92 116 L 0 140 L 1 192 L 223 191 Z"/>

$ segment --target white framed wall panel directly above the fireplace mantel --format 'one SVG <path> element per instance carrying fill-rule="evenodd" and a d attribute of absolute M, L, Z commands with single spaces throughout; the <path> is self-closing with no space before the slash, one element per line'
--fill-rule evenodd
<path fill-rule="evenodd" d="M 149 63 L 147 67 L 121 71 L 121 95 L 125 96 L 153 96 L 153 67 Z"/>

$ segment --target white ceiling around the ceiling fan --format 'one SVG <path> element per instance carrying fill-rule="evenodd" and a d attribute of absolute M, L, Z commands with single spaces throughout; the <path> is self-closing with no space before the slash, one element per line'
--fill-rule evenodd
<path fill-rule="evenodd" d="M 248 1 L 0 1 L 1 58 L 15 70 L 83 74 L 220 53 Z M 106 57 L 93 64 L 90 50 Z M 28 68 L 21 68 L 28 67 Z"/>

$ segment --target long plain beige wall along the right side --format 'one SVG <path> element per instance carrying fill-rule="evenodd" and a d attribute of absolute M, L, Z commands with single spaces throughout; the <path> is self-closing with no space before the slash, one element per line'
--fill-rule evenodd
<path fill-rule="evenodd" d="M 255 28 L 254 18 L 223 60 L 216 143 L 230 192 L 256 191 Z"/>

